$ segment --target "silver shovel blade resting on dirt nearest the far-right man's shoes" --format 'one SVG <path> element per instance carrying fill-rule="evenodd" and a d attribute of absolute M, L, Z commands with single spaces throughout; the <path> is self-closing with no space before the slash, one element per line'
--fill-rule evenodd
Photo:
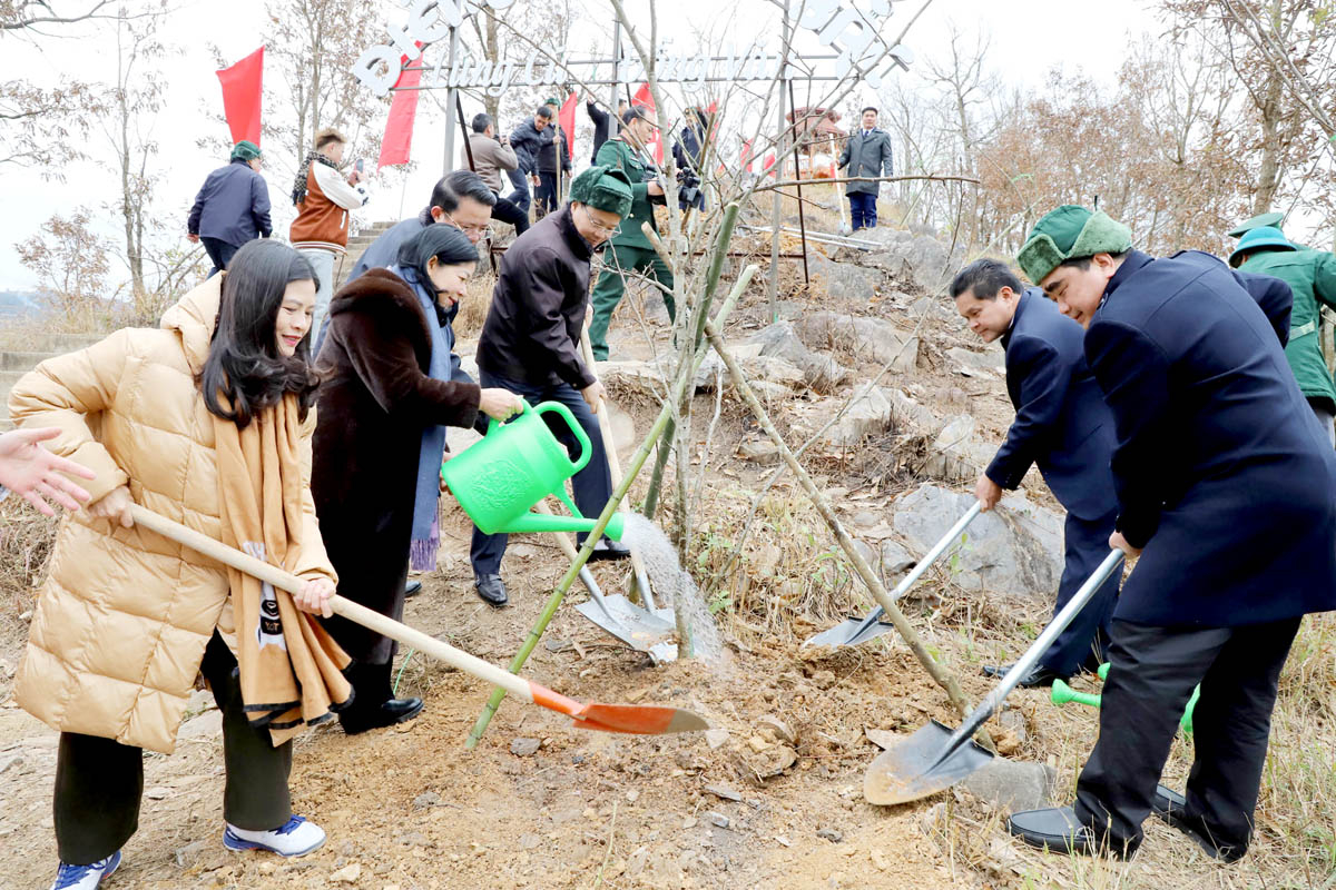
<path fill-rule="evenodd" d="M 973 741 L 942 758 L 951 735 L 950 727 L 933 721 L 882 751 L 863 775 L 863 797 L 882 806 L 918 801 L 951 787 L 993 759 Z M 937 763 L 939 758 L 942 762 Z"/>

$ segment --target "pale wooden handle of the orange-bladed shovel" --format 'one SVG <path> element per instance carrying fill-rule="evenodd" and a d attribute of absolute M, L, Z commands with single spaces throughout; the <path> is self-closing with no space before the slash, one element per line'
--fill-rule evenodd
<path fill-rule="evenodd" d="M 184 544 L 196 552 L 200 552 L 211 559 L 216 559 L 218 562 L 231 566 L 238 571 L 243 571 L 253 578 L 266 580 L 274 587 L 286 590 L 290 594 L 298 594 L 303 587 L 306 587 L 306 582 L 297 575 L 283 571 L 278 566 L 271 566 L 267 562 L 262 562 L 254 556 L 243 554 L 242 551 L 228 547 L 219 540 L 214 540 L 208 535 L 195 531 L 194 528 L 187 528 L 179 522 L 174 522 L 162 514 L 148 510 L 147 507 L 132 504 L 130 511 L 135 518 L 136 524 L 140 524 L 150 531 L 156 531 L 163 538 L 170 538 L 179 544 Z M 420 630 L 413 630 L 407 624 L 402 624 L 393 618 L 386 618 L 385 615 L 373 611 L 366 606 L 359 606 L 345 596 L 339 596 L 338 594 L 330 596 L 330 608 L 334 610 L 334 614 L 346 618 L 354 624 L 361 624 L 362 627 L 374 630 L 377 634 L 398 640 L 405 646 L 411 646 L 420 652 L 438 658 L 446 664 L 460 669 L 465 674 L 472 674 L 473 677 L 486 681 L 493 686 L 500 686 L 510 695 L 516 695 L 525 702 L 533 702 L 533 690 L 529 686 L 529 681 L 516 677 L 496 664 L 485 662 L 477 655 L 470 655 L 469 652 L 456 648 L 449 643 L 442 643 L 434 636 L 429 636 Z"/>

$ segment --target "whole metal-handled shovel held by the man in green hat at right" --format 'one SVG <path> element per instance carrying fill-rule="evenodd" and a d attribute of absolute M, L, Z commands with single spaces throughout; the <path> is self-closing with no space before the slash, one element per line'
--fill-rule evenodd
<path fill-rule="evenodd" d="M 1062 607 L 1030 648 L 1025 650 L 997 689 L 989 693 L 954 733 L 933 721 L 892 749 L 882 751 L 863 777 L 863 797 L 868 803 L 908 803 L 955 785 L 993 759 L 991 751 L 974 742 L 973 735 L 1002 705 L 1011 690 L 1049 651 L 1058 634 L 1077 616 L 1094 592 L 1122 562 L 1122 551 L 1112 550 L 1081 590 Z"/>

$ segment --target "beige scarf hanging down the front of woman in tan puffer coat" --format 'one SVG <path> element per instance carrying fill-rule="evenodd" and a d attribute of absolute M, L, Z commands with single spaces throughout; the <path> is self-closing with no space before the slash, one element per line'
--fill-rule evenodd
<path fill-rule="evenodd" d="M 244 430 L 214 418 L 223 543 L 291 571 L 302 550 L 301 422 L 297 396 L 261 411 Z M 242 702 L 274 745 L 330 718 L 351 687 L 349 656 L 291 595 L 228 568 Z"/>

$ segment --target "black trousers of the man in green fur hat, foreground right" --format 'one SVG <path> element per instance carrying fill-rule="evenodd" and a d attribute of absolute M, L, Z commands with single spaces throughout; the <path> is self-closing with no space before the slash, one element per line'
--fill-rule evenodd
<path fill-rule="evenodd" d="M 1077 782 L 1077 819 L 1114 849 L 1137 849 L 1178 719 L 1201 683 L 1184 817 L 1230 858 L 1242 855 L 1299 622 L 1192 628 L 1114 620 L 1100 741 Z"/>

